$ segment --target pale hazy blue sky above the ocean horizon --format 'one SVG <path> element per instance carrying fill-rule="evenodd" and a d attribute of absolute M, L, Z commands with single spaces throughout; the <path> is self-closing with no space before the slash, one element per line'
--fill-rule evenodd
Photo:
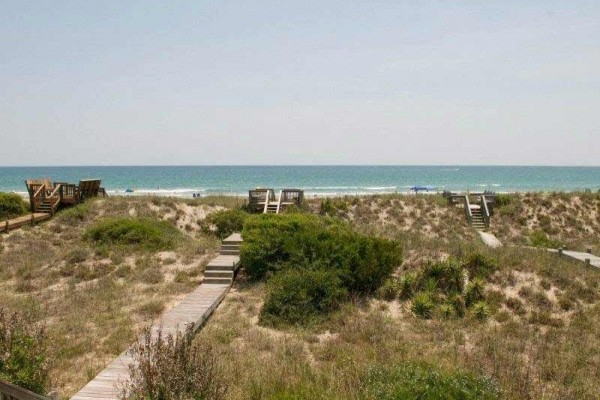
<path fill-rule="evenodd" d="M 0 9 L 0 166 L 600 165 L 597 0 Z"/>

